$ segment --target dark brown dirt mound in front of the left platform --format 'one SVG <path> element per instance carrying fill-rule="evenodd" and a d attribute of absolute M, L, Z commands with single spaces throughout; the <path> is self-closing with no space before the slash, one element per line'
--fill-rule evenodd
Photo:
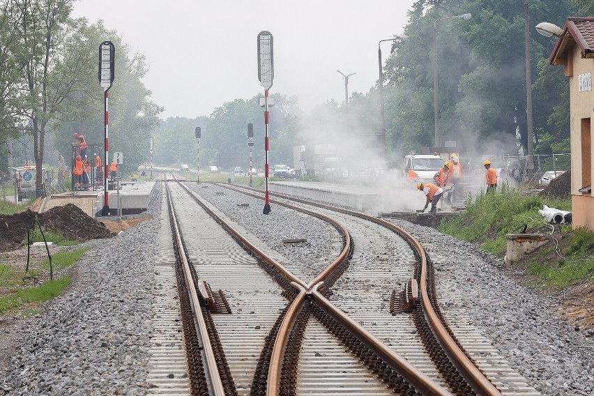
<path fill-rule="evenodd" d="M 26 238 L 26 231 L 37 227 L 36 216 L 44 231 L 59 232 L 73 241 L 89 241 L 114 235 L 102 222 L 91 218 L 73 204 L 56 206 L 45 213 L 34 213 L 27 209 L 14 215 L 0 215 L 0 252 L 20 248 Z"/>

